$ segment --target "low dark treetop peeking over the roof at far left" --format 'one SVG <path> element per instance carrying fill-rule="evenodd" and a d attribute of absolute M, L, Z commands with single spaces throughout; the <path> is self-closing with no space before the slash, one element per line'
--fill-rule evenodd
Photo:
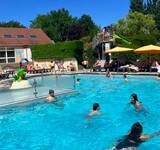
<path fill-rule="evenodd" d="M 17 21 L 0 22 L 0 27 L 15 27 L 15 28 L 25 28 L 24 25 Z"/>

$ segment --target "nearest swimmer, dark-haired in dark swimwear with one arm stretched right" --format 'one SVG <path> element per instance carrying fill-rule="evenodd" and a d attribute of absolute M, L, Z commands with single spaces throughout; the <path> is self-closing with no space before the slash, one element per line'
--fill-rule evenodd
<path fill-rule="evenodd" d="M 150 135 L 142 135 L 142 132 L 143 126 L 139 122 L 134 123 L 128 135 L 118 140 L 116 146 L 111 150 L 136 150 L 142 142 L 160 135 L 160 131 Z"/>

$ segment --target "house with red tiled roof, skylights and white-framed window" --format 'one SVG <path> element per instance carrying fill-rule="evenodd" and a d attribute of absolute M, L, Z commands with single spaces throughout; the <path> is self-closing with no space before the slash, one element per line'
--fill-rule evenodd
<path fill-rule="evenodd" d="M 51 43 L 41 29 L 0 27 L 0 64 L 19 63 L 23 58 L 32 61 L 31 45 Z"/>

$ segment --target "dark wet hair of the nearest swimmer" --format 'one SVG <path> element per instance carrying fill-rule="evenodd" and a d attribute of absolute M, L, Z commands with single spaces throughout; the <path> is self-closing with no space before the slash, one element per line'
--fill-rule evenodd
<path fill-rule="evenodd" d="M 136 122 L 132 125 L 129 137 L 131 137 L 134 140 L 139 140 L 142 132 L 143 132 L 142 125 L 139 122 Z"/>

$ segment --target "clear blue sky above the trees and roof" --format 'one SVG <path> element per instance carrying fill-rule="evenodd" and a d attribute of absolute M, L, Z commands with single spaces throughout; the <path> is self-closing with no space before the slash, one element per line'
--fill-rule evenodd
<path fill-rule="evenodd" d="M 38 14 L 66 8 L 76 17 L 88 14 L 104 27 L 125 17 L 129 4 L 130 0 L 1 0 L 0 22 L 15 20 L 29 26 Z"/>

